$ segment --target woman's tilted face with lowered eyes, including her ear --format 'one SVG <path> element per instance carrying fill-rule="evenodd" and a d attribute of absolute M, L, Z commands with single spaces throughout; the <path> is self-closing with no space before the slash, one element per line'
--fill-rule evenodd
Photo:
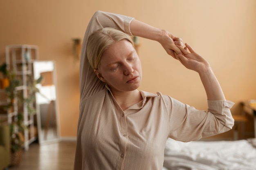
<path fill-rule="evenodd" d="M 112 93 L 136 90 L 142 79 L 139 57 L 128 40 L 112 44 L 101 56 L 99 69 L 94 70 Z"/>

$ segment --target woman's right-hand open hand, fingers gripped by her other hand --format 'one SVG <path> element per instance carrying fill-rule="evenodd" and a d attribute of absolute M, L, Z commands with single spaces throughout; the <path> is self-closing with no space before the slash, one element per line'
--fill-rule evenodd
<path fill-rule="evenodd" d="M 182 54 L 175 53 L 175 57 L 188 69 L 196 71 L 198 73 L 209 71 L 210 64 L 204 60 L 198 53 L 196 53 L 192 47 L 185 43 L 185 47 L 177 46 Z"/>

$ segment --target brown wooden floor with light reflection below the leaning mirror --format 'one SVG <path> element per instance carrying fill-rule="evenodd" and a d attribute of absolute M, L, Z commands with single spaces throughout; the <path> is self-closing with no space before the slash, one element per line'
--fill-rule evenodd
<path fill-rule="evenodd" d="M 23 152 L 20 165 L 9 170 L 73 170 L 75 148 L 75 141 L 33 143 Z"/>

